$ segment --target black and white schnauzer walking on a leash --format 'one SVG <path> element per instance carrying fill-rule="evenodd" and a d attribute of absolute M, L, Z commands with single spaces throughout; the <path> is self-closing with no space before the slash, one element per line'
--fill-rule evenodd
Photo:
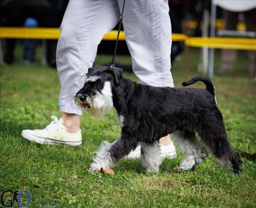
<path fill-rule="evenodd" d="M 123 78 L 121 68 L 89 68 L 76 103 L 96 117 L 114 106 L 121 127 L 115 142 L 102 142 L 90 170 L 113 167 L 140 143 L 141 164 L 147 172 L 158 172 L 162 161 L 158 141 L 172 133 L 175 146 L 187 156 L 178 166 L 180 170 L 202 163 L 209 150 L 231 172 L 241 172 L 242 161 L 228 142 L 211 80 L 195 77 L 182 85 L 197 81 L 206 89 L 152 87 Z"/>

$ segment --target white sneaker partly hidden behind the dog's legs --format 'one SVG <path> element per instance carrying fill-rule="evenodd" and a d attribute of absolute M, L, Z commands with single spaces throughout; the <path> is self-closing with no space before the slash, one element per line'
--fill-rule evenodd
<path fill-rule="evenodd" d="M 175 158 L 177 156 L 172 140 L 169 145 L 163 145 L 160 143 L 160 150 L 162 158 Z M 140 145 L 137 146 L 129 155 L 125 156 L 125 158 L 140 158 Z"/>

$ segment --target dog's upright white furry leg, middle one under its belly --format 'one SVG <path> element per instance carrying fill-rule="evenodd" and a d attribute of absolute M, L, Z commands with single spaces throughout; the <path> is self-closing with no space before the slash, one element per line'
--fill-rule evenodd
<path fill-rule="evenodd" d="M 146 168 L 147 173 L 158 172 L 162 163 L 158 142 L 140 142 L 140 163 Z"/>

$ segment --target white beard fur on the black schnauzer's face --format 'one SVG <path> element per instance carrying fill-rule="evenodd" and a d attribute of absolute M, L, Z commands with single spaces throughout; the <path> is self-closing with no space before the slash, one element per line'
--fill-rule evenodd
<path fill-rule="evenodd" d="M 93 99 L 87 97 L 86 100 L 90 105 L 86 111 L 97 118 L 102 118 L 113 107 L 111 83 L 105 82 L 101 93 L 97 92 Z"/>

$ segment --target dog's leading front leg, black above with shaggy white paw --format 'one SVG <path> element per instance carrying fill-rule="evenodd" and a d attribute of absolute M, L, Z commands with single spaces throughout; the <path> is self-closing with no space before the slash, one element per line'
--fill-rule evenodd
<path fill-rule="evenodd" d="M 113 167 L 121 158 L 128 155 L 132 149 L 135 149 L 137 145 L 137 140 L 127 138 L 123 135 L 113 143 L 103 141 L 97 151 L 96 157 L 90 164 L 90 171 L 100 171 L 101 167 Z"/>

